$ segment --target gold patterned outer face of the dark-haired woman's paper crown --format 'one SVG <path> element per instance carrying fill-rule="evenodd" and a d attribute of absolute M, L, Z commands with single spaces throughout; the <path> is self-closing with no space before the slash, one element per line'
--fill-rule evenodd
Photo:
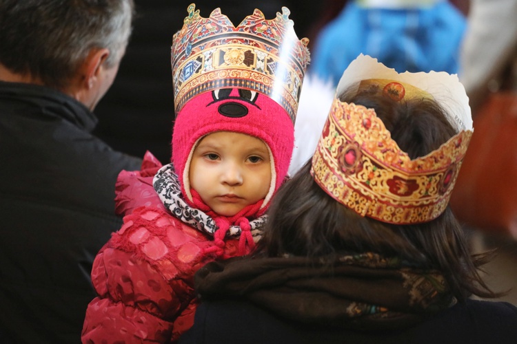
<path fill-rule="evenodd" d="M 401 151 L 373 109 L 334 100 L 312 159 L 314 180 L 361 216 L 418 224 L 443 213 L 472 131 L 415 160 Z"/>

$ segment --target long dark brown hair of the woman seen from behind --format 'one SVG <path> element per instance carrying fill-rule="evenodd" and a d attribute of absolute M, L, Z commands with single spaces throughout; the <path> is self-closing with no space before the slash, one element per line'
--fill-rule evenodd
<path fill-rule="evenodd" d="M 396 103 L 371 94 L 341 100 L 375 109 L 392 138 L 412 159 L 438 149 L 456 134 L 444 110 L 433 100 Z M 440 270 L 458 301 L 472 294 L 500 295 L 488 288 L 478 272 L 488 255 L 470 255 L 463 228 L 449 207 L 423 224 L 386 224 L 361 217 L 327 195 L 310 175 L 310 166 L 308 161 L 278 190 L 257 255 L 327 257 L 376 252 Z"/>

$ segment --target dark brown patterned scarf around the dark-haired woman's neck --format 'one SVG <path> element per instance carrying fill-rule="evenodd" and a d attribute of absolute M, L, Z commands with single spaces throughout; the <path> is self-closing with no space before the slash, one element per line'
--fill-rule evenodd
<path fill-rule="evenodd" d="M 245 299 L 284 318 L 354 330 L 413 325 L 456 300 L 443 275 L 373 253 L 332 261 L 238 257 L 196 273 L 203 299 Z"/>

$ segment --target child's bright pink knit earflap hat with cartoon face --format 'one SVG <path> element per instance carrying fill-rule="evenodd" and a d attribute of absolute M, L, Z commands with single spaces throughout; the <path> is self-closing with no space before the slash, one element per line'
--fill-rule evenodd
<path fill-rule="evenodd" d="M 294 147 L 290 116 L 272 98 L 243 88 L 214 89 L 189 100 L 176 117 L 172 134 L 172 162 L 187 202 L 192 202 L 192 153 L 201 138 L 216 131 L 244 133 L 266 144 L 272 162 L 272 181 L 261 207 L 267 206 L 289 168 Z"/>

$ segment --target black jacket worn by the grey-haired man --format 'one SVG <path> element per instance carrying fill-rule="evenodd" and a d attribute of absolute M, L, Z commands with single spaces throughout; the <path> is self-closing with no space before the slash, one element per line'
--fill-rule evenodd
<path fill-rule="evenodd" d="M 0 342 L 79 343 L 92 261 L 118 230 L 114 184 L 141 160 L 60 92 L 0 82 Z"/>

